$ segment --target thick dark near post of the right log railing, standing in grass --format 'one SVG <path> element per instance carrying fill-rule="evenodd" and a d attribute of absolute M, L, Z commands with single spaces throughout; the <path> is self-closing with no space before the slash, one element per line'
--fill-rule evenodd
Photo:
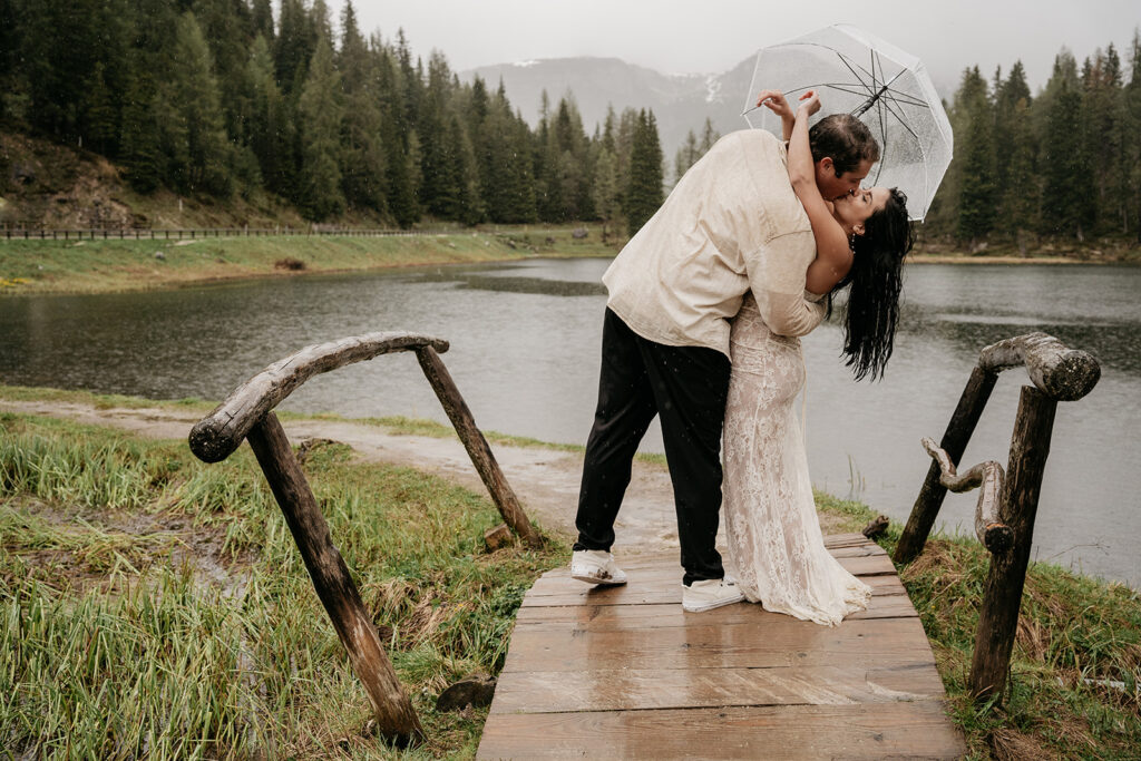
<path fill-rule="evenodd" d="M 1002 694 L 1006 682 L 1057 406 L 1057 399 L 1034 387 L 1022 387 L 1000 505 L 1000 520 L 1010 527 L 1013 545 L 990 557 L 968 681 L 977 699 Z"/>

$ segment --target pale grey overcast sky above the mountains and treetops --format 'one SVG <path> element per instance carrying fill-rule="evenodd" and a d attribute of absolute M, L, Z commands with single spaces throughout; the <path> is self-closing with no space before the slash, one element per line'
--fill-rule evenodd
<path fill-rule="evenodd" d="M 340 19 L 345 0 L 326 0 Z M 663 73 L 720 73 L 758 48 L 828 24 L 860 26 L 926 63 L 937 84 L 965 66 L 989 76 L 1017 59 L 1031 89 L 1065 44 L 1081 64 L 1112 42 L 1127 63 L 1138 0 L 354 0 L 361 29 L 404 29 L 414 55 L 452 68 L 613 56 Z"/>

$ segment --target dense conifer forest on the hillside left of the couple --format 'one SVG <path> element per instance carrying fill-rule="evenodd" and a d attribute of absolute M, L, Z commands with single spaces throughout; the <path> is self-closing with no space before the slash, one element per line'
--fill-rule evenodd
<path fill-rule="evenodd" d="M 647 219 L 662 202 L 654 114 L 592 136 L 573 96 L 537 128 L 502 86 L 366 35 L 323 0 L 0 0 L 0 123 L 120 165 L 141 193 L 268 192 L 314 221 L 402 227 Z"/>

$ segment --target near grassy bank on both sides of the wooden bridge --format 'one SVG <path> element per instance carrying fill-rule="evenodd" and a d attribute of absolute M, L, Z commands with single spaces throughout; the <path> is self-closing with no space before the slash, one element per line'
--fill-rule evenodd
<path fill-rule="evenodd" d="M 566 551 L 485 553 L 482 533 L 499 523 L 486 496 L 350 454 L 321 446 L 305 468 L 426 723 L 429 742 L 410 755 L 468 758 L 486 712 L 437 714 L 435 696 L 497 671 L 523 592 Z M 873 517 L 826 494 L 817 504 L 848 529 Z M 881 540 L 889 552 L 899 529 Z M 297 554 L 246 450 L 205 465 L 184 442 L 0 415 L 0 651 L 15 654 L 0 661 L 0 747 L 17 758 L 400 755 L 362 734 L 367 699 Z M 977 706 L 965 680 L 987 562 L 973 539 L 939 535 L 900 569 L 971 756 L 1136 758 L 1141 594 L 1033 564 L 1008 693 Z"/>

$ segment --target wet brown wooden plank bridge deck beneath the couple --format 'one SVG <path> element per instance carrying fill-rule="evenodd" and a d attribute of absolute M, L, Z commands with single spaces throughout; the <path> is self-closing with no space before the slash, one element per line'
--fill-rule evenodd
<path fill-rule="evenodd" d="M 677 556 L 625 586 L 566 569 L 524 598 L 478 758 L 948 758 L 966 748 L 919 616 L 884 551 L 826 540 L 874 592 L 826 628 L 731 605 L 681 609 Z"/>

